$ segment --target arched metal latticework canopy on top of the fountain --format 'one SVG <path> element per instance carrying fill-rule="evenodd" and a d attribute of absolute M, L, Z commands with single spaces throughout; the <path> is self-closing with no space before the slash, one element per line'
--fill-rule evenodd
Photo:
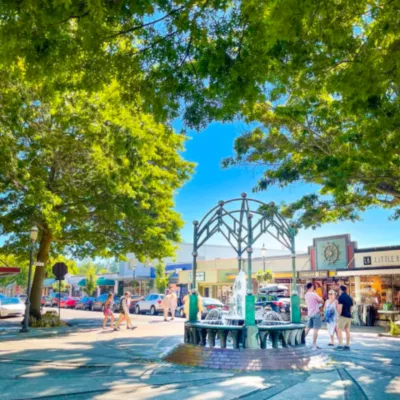
<path fill-rule="evenodd" d="M 219 201 L 200 222 L 194 221 L 193 224 L 193 287 L 196 286 L 198 249 L 216 233 L 221 233 L 236 251 L 239 271 L 242 269 L 242 255 L 247 252 L 249 276 L 253 244 L 267 233 L 292 253 L 293 289 L 296 290 L 295 230 L 274 203 L 249 199 L 246 193 L 242 193 L 241 198 Z M 248 293 L 251 290 L 251 279 L 248 279 Z"/>

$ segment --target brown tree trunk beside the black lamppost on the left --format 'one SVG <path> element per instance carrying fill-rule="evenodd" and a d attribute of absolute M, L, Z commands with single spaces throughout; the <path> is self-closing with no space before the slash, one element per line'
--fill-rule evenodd
<path fill-rule="evenodd" d="M 46 265 L 47 261 L 49 260 L 51 240 L 52 237 L 50 232 L 47 230 L 43 231 L 42 238 L 40 239 L 37 261 L 44 263 L 44 265 Z M 33 278 L 33 284 L 31 289 L 31 308 L 29 311 L 29 314 L 36 319 L 41 318 L 40 300 L 42 297 L 42 288 L 45 275 L 46 275 L 46 268 L 44 266 L 36 267 L 35 277 Z"/>

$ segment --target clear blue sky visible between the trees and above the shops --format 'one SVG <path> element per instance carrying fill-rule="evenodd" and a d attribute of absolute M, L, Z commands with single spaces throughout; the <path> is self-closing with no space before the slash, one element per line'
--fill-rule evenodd
<path fill-rule="evenodd" d="M 180 127 L 179 122 L 174 124 Z M 213 123 L 207 129 L 197 133 L 189 132 L 184 157 L 197 163 L 196 172 L 190 182 L 176 196 L 176 209 L 182 214 L 185 227 L 182 231 L 184 242 L 192 242 L 192 221 L 200 220 L 218 200 L 239 197 L 242 192 L 249 197 L 269 202 L 290 202 L 306 193 L 315 191 L 315 186 L 297 184 L 284 189 L 272 188 L 265 192 L 252 193 L 261 175 L 254 167 L 221 168 L 221 160 L 233 155 L 235 137 L 246 130 L 243 123 Z M 302 230 L 296 238 L 297 250 L 306 250 L 315 237 L 351 234 L 358 247 L 388 246 L 400 244 L 400 222 L 389 221 L 390 212 L 371 209 L 362 214 L 362 221 L 338 222 L 327 224 L 316 230 Z M 281 245 L 268 238 L 262 238 L 257 245 L 265 241 L 267 248 L 281 249 Z M 213 244 L 225 243 L 221 237 L 210 240 Z"/>

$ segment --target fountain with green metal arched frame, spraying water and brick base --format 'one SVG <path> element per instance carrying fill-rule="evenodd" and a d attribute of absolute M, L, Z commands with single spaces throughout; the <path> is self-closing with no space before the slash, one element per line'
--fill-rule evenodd
<path fill-rule="evenodd" d="M 237 201 L 241 201 L 238 210 L 228 211 L 227 204 Z M 197 295 L 191 295 L 184 343 L 165 355 L 167 361 L 238 370 L 309 368 L 311 365 L 319 366 L 326 362 L 326 356 L 319 350 L 305 347 L 305 325 L 300 322 L 299 298 L 295 285 L 291 296 L 291 321 L 282 321 L 281 316 L 274 311 L 255 308 L 252 286 L 242 269 L 243 248 L 248 253 L 247 276 L 251 276 L 252 245 L 261 234 L 270 233 L 291 249 L 295 277 L 294 231 L 272 206 L 271 212 L 260 214 L 258 211 L 250 211 L 250 202 L 257 203 L 257 207 L 263 204 L 247 199 L 243 193 L 242 199 L 220 201 L 200 223 L 194 222 L 192 287 L 196 287 L 197 249 L 222 229 L 227 230 L 225 237 L 238 254 L 239 272 L 228 301 L 229 311 L 212 310 L 204 321 L 199 322 Z M 235 213 L 239 215 L 234 215 Z M 255 214 L 261 215 L 261 218 L 254 222 L 253 231 L 252 219 Z M 272 228 L 276 231 L 270 232 Z M 256 229 L 260 232 L 255 233 Z M 236 245 L 232 244 L 232 237 L 235 238 Z"/>

